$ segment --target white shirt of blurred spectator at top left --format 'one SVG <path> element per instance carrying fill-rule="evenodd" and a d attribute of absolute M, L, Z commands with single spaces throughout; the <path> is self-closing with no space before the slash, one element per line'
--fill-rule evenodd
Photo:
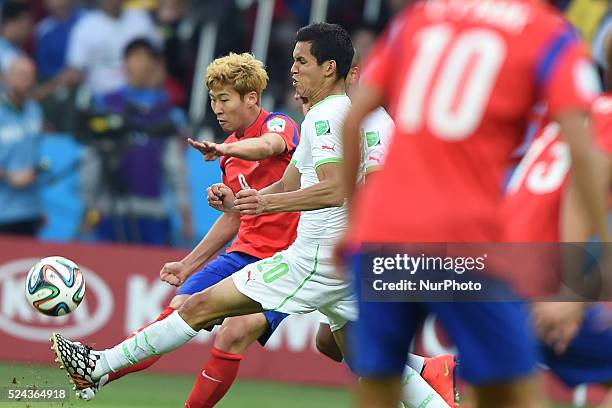
<path fill-rule="evenodd" d="M 149 14 L 123 9 L 123 0 L 99 0 L 100 8 L 76 23 L 68 43 L 67 65 L 84 79 L 93 95 L 115 91 L 126 83 L 122 52 L 134 38 L 156 41 Z"/>

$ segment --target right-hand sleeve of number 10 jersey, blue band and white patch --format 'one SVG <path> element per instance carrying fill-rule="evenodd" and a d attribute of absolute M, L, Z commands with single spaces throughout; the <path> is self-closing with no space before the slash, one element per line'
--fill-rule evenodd
<path fill-rule="evenodd" d="M 600 92 L 587 48 L 568 23 L 544 46 L 536 76 L 553 117 L 570 109 L 588 111 Z"/>

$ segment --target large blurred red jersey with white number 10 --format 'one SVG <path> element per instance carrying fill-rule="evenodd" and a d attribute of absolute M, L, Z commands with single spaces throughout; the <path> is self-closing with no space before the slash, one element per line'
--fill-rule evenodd
<path fill-rule="evenodd" d="M 356 242 L 499 241 L 504 176 L 534 105 L 588 111 L 598 86 L 569 23 L 529 0 L 417 2 L 379 40 L 363 81 L 397 128 L 356 200 Z"/>

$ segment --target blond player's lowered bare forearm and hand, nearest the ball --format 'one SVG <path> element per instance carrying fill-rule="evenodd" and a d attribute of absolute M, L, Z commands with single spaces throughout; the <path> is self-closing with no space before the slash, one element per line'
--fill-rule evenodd
<path fill-rule="evenodd" d="M 224 212 L 202 238 L 200 243 L 182 260 L 168 262 L 159 272 L 160 279 L 173 286 L 180 286 L 189 276 L 215 256 L 238 233 L 240 216 Z"/>

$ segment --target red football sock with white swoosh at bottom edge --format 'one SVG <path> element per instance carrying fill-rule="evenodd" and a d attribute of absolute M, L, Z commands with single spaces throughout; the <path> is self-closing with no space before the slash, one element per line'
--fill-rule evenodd
<path fill-rule="evenodd" d="M 213 347 L 211 356 L 196 378 L 185 408 L 210 408 L 230 389 L 240 368 L 241 354 L 225 353 Z"/>

